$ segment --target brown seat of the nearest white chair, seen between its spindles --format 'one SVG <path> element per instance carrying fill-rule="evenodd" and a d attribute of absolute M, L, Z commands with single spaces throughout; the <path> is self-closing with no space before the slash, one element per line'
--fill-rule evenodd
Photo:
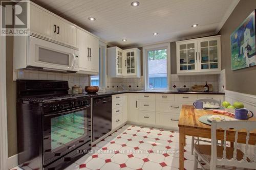
<path fill-rule="evenodd" d="M 217 158 L 222 159 L 223 157 L 223 147 L 217 145 Z M 233 158 L 233 151 L 234 148 L 226 147 L 226 158 L 231 159 Z M 210 164 L 210 158 L 211 158 L 211 145 L 209 144 L 195 144 L 195 152 L 205 161 L 205 163 Z M 237 160 L 242 160 L 244 156 L 244 153 L 237 149 Z M 247 161 L 250 162 L 250 159 L 247 157 Z M 228 169 L 234 169 L 232 166 L 218 166 L 219 168 L 228 168 Z M 238 167 L 236 167 L 238 168 Z M 243 169 L 243 168 L 242 168 Z"/>

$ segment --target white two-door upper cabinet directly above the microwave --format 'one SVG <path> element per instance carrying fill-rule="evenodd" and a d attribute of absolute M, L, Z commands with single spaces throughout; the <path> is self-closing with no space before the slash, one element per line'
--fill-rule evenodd
<path fill-rule="evenodd" d="M 34 3 L 28 3 L 28 9 L 30 9 L 31 16 L 31 35 L 75 49 L 77 48 L 77 28 L 74 25 Z"/>

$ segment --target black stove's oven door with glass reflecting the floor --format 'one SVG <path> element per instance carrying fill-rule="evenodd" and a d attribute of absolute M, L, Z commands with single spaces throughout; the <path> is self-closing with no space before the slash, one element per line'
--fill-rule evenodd
<path fill-rule="evenodd" d="M 45 114 L 42 121 L 44 166 L 85 143 L 91 143 L 91 105 Z"/>

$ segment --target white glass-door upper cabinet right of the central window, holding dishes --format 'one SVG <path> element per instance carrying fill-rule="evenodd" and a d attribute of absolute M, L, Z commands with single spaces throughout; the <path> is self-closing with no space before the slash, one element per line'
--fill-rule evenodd
<path fill-rule="evenodd" d="M 177 74 L 220 74 L 221 36 L 176 42 Z"/>

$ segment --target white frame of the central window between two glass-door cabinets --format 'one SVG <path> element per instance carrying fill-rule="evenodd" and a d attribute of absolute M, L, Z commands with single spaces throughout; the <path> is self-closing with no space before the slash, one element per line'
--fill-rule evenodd
<path fill-rule="evenodd" d="M 148 51 L 163 50 L 166 49 L 167 53 L 167 87 L 166 88 L 150 88 L 148 78 Z M 143 46 L 143 79 L 145 90 L 170 90 L 170 43 L 162 43 L 155 45 Z"/>

